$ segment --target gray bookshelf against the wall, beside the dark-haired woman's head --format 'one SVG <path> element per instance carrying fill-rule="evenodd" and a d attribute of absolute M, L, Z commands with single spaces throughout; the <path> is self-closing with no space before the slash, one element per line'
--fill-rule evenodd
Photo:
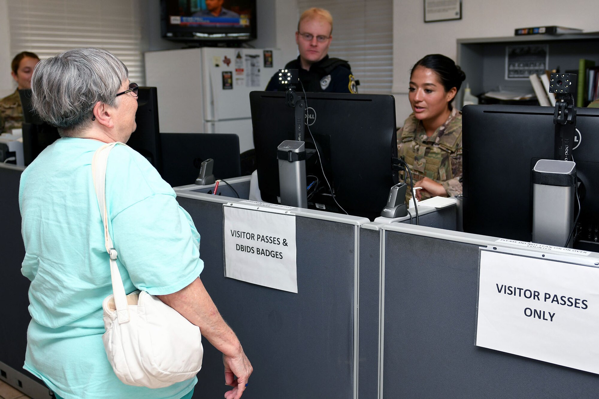
<path fill-rule="evenodd" d="M 466 83 L 474 95 L 497 90 L 532 91 L 528 80 L 506 80 L 506 46 L 547 44 L 547 69 L 559 66 L 560 72 L 578 70 L 579 59 L 586 58 L 599 65 L 599 32 L 570 35 L 524 35 L 457 40 L 457 64 L 466 73 L 466 80 L 456 96 L 455 104 L 462 104 Z M 578 105 L 578 104 L 577 104 Z"/>

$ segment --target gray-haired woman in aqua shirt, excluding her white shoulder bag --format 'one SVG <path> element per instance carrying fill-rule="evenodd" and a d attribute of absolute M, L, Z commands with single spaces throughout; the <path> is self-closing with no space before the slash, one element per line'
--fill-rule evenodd
<path fill-rule="evenodd" d="M 31 280 L 25 368 L 59 398 L 190 398 L 197 379 L 150 389 L 125 385 L 108 362 L 102 300 L 112 294 L 92 156 L 135 131 L 137 84 L 102 49 L 69 50 L 41 61 L 32 77 L 35 110 L 61 138 L 23 172 L 19 189 Z M 199 234 L 173 189 L 127 146 L 106 170 L 108 225 L 127 293 L 143 289 L 197 325 L 223 353 L 225 398 L 240 398 L 252 365 L 199 274 Z"/>

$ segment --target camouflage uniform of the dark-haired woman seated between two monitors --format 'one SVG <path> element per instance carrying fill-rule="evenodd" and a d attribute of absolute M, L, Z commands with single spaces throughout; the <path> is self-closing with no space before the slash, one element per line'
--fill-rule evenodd
<path fill-rule="evenodd" d="M 462 113 L 453 108 L 449 118 L 431 137 L 426 137 L 422 122 L 411 114 L 397 132 L 397 155 L 403 156 L 412 170 L 414 184 L 424 177 L 443 185 L 447 195 L 462 194 Z M 407 172 L 406 172 L 407 173 Z M 412 198 L 407 176 L 406 202 Z M 426 199 L 422 195 L 422 199 Z"/>

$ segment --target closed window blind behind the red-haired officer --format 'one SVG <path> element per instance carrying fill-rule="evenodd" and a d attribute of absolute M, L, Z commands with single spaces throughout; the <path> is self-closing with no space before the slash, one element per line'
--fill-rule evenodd
<path fill-rule="evenodd" d="M 329 56 L 345 59 L 360 81 L 360 93 L 391 93 L 393 80 L 392 0 L 298 0 L 299 15 L 310 7 L 333 17 Z"/>

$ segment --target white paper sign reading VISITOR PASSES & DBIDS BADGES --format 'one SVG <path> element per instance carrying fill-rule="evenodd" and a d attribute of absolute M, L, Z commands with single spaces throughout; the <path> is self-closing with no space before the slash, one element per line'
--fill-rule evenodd
<path fill-rule="evenodd" d="M 295 216 L 225 205 L 225 277 L 298 292 Z"/>

